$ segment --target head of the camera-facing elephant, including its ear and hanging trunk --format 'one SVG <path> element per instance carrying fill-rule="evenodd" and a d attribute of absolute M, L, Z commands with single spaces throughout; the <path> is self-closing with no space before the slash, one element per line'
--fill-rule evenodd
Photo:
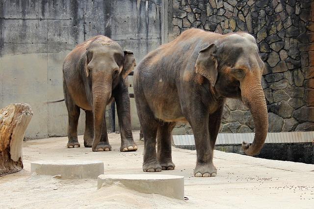
<path fill-rule="evenodd" d="M 110 101 L 112 89 L 128 76 L 135 65 L 133 52 L 123 51 L 118 43 L 110 39 L 93 41 L 86 48 L 84 73 L 90 81 L 92 90 L 93 150 L 101 138 L 105 107 Z"/>

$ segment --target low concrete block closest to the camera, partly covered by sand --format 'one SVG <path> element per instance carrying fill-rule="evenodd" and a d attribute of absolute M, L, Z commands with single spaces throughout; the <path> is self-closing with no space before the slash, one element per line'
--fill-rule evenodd
<path fill-rule="evenodd" d="M 156 193 L 183 200 L 184 177 L 159 174 L 100 175 L 98 189 L 121 184 L 142 193 Z"/>

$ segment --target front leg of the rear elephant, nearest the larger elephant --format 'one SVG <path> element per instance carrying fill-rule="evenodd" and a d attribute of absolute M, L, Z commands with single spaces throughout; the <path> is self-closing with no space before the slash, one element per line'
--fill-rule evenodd
<path fill-rule="evenodd" d="M 131 131 L 130 97 L 125 83 L 119 84 L 114 92 L 117 105 L 119 126 L 121 130 L 121 152 L 136 151 L 137 145 L 133 140 Z"/>

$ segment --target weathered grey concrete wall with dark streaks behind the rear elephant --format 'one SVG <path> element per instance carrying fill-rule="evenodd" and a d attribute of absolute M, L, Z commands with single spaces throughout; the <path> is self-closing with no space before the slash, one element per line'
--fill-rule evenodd
<path fill-rule="evenodd" d="M 161 0 L 1 0 L 0 107 L 29 103 L 27 138 L 67 134 L 62 62 L 78 43 L 106 35 L 136 61 L 161 44 Z M 132 93 L 132 88 L 130 88 Z M 131 99 L 132 126 L 139 128 Z M 82 111 L 78 132 L 83 133 Z"/>

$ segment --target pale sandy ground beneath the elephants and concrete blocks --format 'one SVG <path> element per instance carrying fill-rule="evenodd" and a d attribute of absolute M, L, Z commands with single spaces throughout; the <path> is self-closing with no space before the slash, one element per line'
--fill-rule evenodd
<path fill-rule="evenodd" d="M 314 208 L 314 165 L 258 159 L 215 151 L 216 177 L 195 178 L 196 151 L 173 148 L 176 169 L 161 174 L 184 176 L 187 201 L 138 193 L 119 186 L 97 190 L 97 180 L 60 180 L 30 173 L 37 160 L 100 160 L 105 174 L 142 173 L 143 142 L 138 151 L 121 153 L 120 135 L 109 134 L 110 152 L 67 149 L 67 138 L 23 143 L 24 166 L 0 177 L 0 208 Z M 83 144 L 82 136 L 79 142 Z M 154 175 L 154 174 L 152 174 Z"/>

